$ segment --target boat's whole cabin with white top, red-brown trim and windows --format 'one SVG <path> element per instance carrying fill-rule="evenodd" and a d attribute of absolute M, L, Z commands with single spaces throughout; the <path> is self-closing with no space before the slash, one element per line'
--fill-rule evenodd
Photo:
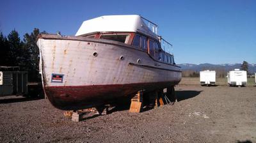
<path fill-rule="evenodd" d="M 172 44 L 157 35 L 157 27 L 140 15 L 108 15 L 84 21 L 76 36 L 119 41 L 174 65 Z"/>

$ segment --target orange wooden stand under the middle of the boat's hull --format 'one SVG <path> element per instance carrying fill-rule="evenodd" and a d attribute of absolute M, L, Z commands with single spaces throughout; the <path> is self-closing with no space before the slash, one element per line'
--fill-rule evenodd
<path fill-rule="evenodd" d="M 143 107 L 143 93 L 138 91 L 138 93 L 131 99 L 131 106 L 129 112 L 139 113 L 142 111 Z"/>

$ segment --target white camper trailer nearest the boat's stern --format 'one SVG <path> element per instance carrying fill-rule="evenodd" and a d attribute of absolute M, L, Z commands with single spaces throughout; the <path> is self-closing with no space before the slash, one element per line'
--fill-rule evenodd
<path fill-rule="evenodd" d="M 200 84 L 204 85 L 215 85 L 216 83 L 216 72 L 210 70 L 204 70 L 200 72 Z"/>

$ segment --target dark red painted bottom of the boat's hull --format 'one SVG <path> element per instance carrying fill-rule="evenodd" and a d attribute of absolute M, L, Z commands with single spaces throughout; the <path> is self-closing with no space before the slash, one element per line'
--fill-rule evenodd
<path fill-rule="evenodd" d="M 140 89 L 151 91 L 178 83 L 179 81 L 94 86 L 51 86 L 45 87 L 45 93 L 54 107 L 61 110 L 78 110 L 115 102 L 115 99 L 134 94 Z"/>

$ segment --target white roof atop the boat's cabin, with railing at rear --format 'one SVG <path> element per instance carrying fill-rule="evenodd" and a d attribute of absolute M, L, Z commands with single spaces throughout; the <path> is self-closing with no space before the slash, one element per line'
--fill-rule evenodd
<path fill-rule="evenodd" d="M 97 32 L 139 32 L 158 38 L 157 29 L 150 30 L 149 25 L 145 24 L 145 19 L 140 15 L 106 15 L 86 20 L 78 29 L 76 36 Z"/>

